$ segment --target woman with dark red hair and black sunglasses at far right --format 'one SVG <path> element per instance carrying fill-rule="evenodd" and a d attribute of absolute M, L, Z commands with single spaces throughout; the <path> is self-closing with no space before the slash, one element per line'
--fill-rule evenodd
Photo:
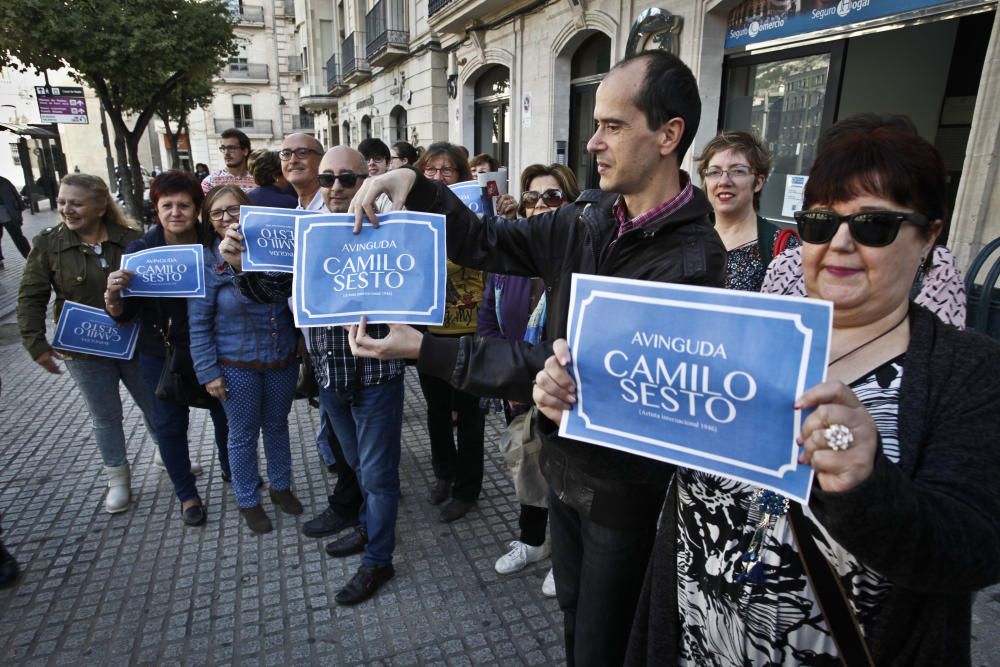
<path fill-rule="evenodd" d="M 1000 345 L 910 300 L 945 217 L 937 150 L 832 133 L 796 214 L 806 292 L 834 307 L 828 381 L 796 406 L 816 408 L 804 528 L 773 492 L 678 469 L 631 664 L 970 663 L 973 593 L 1000 580 Z"/>

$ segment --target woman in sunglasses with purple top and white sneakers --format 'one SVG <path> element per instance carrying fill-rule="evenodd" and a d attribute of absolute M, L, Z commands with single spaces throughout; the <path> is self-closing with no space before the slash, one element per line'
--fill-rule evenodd
<path fill-rule="evenodd" d="M 521 172 L 521 200 L 517 213 L 530 218 L 561 208 L 579 196 L 576 175 L 568 167 L 560 164 L 533 164 Z M 483 290 L 483 305 L 479 310 L 479 335 L 511 341 L 524 340 L 537 345 L 542 340 L 545 327 L 545 308 L 545 284 L 540 278 L 490 274 Z M 507 423 L 510 424 L 529 407 L 524 403 L 504 402 L 503 411 Z M 544 485 L 540 470 L 535 473 L 524 469 L 531 466 L 533 470 L 537 470 L 537 456 L 524 456 L 519 466 L 521 479 L 539 480 Z M 539 499 L 533 504 L 519 498 L 520 533 L 518 539 L 508 545 L 509 551 L 494 564 L 494 569 L 499 574 L 519 572 L 529 563 L 549 555 L 549 546 L 545 540 L 549 515 L 544 501 L 545 488 L 547 487 L 543 486 L 532 490 L 531 495 Z M 548 597 L 556 594 L 551 569 L 542 583 L 542 593 Z"/>

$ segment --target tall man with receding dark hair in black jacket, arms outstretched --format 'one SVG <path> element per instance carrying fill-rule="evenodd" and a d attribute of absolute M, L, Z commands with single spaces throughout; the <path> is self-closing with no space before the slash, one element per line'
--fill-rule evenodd
<path fill-rule="evenodd" d="M 587 148 L 601 191 L 585 192 L 575 205 L 530 222 L 483 223 L 446 188 L 399 169 L 366 184 L 352 208 L 360 225 L 361 213 L 373 218 L 375 199 L 386 193 L 410 210 L 447 214 L 450 259 L 541 276 L 550 299 L 545 339 L 565 338 L 573 273 L 723 285 L 725 248 L 709 222 L 711 207 L 679 169 L 700 115 L 690 70 L 675 56 L 645 52 L 616 65 L 598 88 Z M 357 336 L 358 354 L 378 356 L 392 344 Z M 419 352 L 425 372 L 459 378 L 473 393 L 527 402 L 552 347 L 424 336 Z M 560 438 L 556 428 L 540 420 L 567 662 L 621 664 L 673 467 Z"/>

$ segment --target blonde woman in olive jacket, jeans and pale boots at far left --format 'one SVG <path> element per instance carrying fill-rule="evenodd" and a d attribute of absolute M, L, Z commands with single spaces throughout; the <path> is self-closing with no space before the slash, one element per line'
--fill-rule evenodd
<path fill-rule="evenodd" d="M 94 429 L 94 441 L 104 461 L 108 478 L 105 509 L 112 513 L 128 509 L 130 480 L 119 383 L 144 416 L 152 417 L 152 396 L 142 380 L 139 358 L 110 359 L 86 354 L 60 353 L 45 337 L 49 299 L 55 292 L 54 318 L 63 303 L 75 301 L 104 307 L 108 274 L 121 264 L 125 247 L 141 236 L 97 176 L 70 174 L 59 184 L 56 200 L 61 222 L 36 236 L 21 276 L 17 295 L 17 325 L 31 358 L 50 373 L 61 373 L 57 361 L 64 360 L 83 396 Z M 155 431 L 146 425 L 151 434 Z"/>

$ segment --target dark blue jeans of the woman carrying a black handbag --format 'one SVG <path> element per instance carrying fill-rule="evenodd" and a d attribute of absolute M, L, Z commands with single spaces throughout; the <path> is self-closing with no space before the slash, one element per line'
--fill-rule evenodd
<path fill-rule="evenodd" d="M 186 405 L 164 401 L 156 397 L 156 385 L 163 372 L 163 357 L 148 354 L 139 355 L 139 365 L 142 367 L 142 377 L 146 386 L 153 394 L 153 431 L 160 443 L 160 457 L 167 468 L 170 481 L 174 484 L 174 493 L 182 503 L 198 497 L 194 475 L 191 474 L 191 452 L 188 443 L 188 417 L 190 408 Z M 219 450 L 219 465 L 229 474 L 229 452 L 226 440 L 229 427 L 226 425 L 226 412 L 222 404 L 216 404 L 210 411 L 212 424 L 215 427 L 215 445 Z"/>

